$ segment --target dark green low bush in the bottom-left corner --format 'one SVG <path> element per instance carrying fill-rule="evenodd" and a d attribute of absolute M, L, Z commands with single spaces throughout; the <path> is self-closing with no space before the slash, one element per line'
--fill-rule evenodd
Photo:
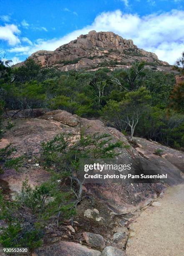
<path fill-rule="evenodd" d="M 0 219 L 6 220 L 7 224 L 7 227 L 0 227 L 0 244 L 4 247 L 40 246 L 43 236 L 41 230 L 36 228 L 28 212 L 22 211 L 23 205 L 18 200 L 11 202 L 5 200 L 2 194 L 0 194 L 0 205 Z"/>

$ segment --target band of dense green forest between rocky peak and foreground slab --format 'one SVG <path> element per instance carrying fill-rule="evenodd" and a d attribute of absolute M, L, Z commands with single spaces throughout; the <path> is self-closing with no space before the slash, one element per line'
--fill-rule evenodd
<path fill-rule="evenodd" d="M 41 69 L 32 59 L 23 67 L 11 69 L 3 62 L 0 67 L 1 109 L 62 109 L 101 117 L 131 137 L 184 147 L 184 84 L 174 86 L 174 74 L 146 69 L 144 63 L 113 72 Z"/>

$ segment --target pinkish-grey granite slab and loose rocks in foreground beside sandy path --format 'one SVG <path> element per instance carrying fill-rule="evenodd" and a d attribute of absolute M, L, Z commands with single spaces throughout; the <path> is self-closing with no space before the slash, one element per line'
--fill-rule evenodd
<path fill-rule="evenodd" d="M 37 156 L 39 156 L 41 142 L 51 140 L 58 133 L 70 133 L 75 138 L 80 136 L 81 131 L 84 135 L 107 133 L 112 138 L 111 142 L 114 143 L 120 140 L 124 142 L 124 145 L 128 146 L 121 149 L 116 148 L 117 153 L 119 153 L 117 158 L 121 163 L 129 159 L 133 163 L 132 172 L 139 167 L 146 173 L 150 169 L 157 168 L 161 172 L 168 174 L 168 179 L 163 184 L 130 183 L 128 181 L 84 184 L 83 187 L 85 189 L 83 190 L 85 190 L 89 197 L 93 197 L 95 202 L 98 202 L 98 207 L 88 208 L 86 206 L 84 209 L 82 208 L 82 225 L 85 226 L 85 222 L 89 223 L 88 220 L 91 220 L 96 229 L 93 231 L 77 231 L 75 226 L 72 227 L 68 223 L 66 228 L 70 234 L 72 233 L 72 236 L 76 233 L 78 233 L 76 234 L 78 236 L 80 233 L 79 243 L 76 243 L 76 240 L 74 240 L 75 243 L 73 241 L 61 241 L 60 238 L 51 236 L 48 240 L 49 243 L 35 249 L 33 256 L 124 256 L 126 254 L 122 250 L 121 243 L 122 241 L 124 243 L 124 240 L 127 238 L 127 228 L 124 226 L 128 225 L 133 218 L 132 216 L 134 216 L 130 212 L 139 210 L 141 207 L 154 201 L 154 198 L 168 185 L 172 186 L 184 181 L 184 173 L 182 172 L 184 153 L 182 151 L 136 137 L 134 137 L 134 140 L 137 143 L 137 147 L 134 148 L 121 132 L 114 128 L 106 127 L 100 120 L 89 120 L 63 110 L 54 110 L 45 114 L 41 112 L 40 117 L 37 118 L 15 118 L 14 122 L 15 126 L 3 135 L 3 139 L 0 141 L 0 148 L 13 143 L 13 146 L 17 148 L 16 156 L 27 153 L 30 159 L 28 159 L 25 167 L 20 167 L 20 172 L 7 169 L 4 174 L 0 174 L 0 186 L 2 186 L 1 180 L 3 180 L 3 182 L 9 185 L 13 195 L 20 193 L 22 182 L 25 178 L 28 178 L 28 182 L 32 187 L 49 179 L 49 172 L 39 165 Z M 154 154 L 158 148 L 162 150 L 161 156 Z M 106 215 L 104 215 L 102 208 L 105 209 Z M 107 240 L 106 234 L 99 232 L 101 230 L 99 227 L 101 225 L 104 227 L 105 218 L 112 222 L 112 216 L 117 214 L 126 214 L 126 216 L 122 217 L 118 222 L 116 221 L 119 224 L 114 229 L 114 232 L 111 232 L 111 235 L 108 234 Z M 81 228 L 82 225 L 80 223 L 79 227 Z M 104 230 L 106 232 L 106 229 Z M 109 237 L 112 238 L 111 241 L 113 243 L 111 245 L 113 246 L 109 246 Z M 63 238 L 68 239 L 68 235 L 65 234 Z M 83 240 L 85 243 L 83 243 Z M 130 243 L 131 240 L 129 239 L 128 241 Z M 108 244 L 105 247 L 106 242 Z M 91 246 L 92 248 L 86 246 Z"/>

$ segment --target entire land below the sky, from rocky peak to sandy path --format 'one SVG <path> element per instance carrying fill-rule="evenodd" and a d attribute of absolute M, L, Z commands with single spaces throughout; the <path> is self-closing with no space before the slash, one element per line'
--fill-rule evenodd
<path fill-rule="evenodd" d="M 183 69 L 95 31 L 19 66 L 0 60 L 0 255 L 180 252 Z"/>

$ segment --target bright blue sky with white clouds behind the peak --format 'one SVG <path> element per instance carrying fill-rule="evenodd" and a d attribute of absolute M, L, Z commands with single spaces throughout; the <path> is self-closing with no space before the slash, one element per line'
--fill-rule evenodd
<path fill-rule="evenodd" d="M 0 49 L 14 63 L 93 29 L 171 64 L 184 51 L 184 0 L 0 0 L 0 9 Z"/>

